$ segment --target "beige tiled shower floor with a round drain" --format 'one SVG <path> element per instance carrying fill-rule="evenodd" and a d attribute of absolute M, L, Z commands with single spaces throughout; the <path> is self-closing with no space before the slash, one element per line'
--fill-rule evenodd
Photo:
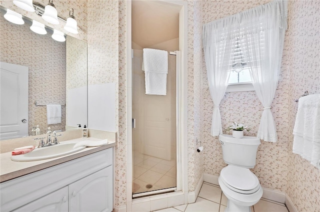
<path fill-rule="evenodd" d="M 175 159 L 168 161 L 133 153 L 133 194 L 175 187 L 175 176 Z"/>

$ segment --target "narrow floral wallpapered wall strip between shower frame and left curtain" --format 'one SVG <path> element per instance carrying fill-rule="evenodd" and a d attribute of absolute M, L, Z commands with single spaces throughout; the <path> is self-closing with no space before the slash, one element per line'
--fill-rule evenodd
<path fill-rule="evenodd" d="M 201 1 L 188 0 L 188 191 L 195 190 L 203 173 L 203 154 L 197 153 L 198 146 L 203 144 L 201 136 Z"/>

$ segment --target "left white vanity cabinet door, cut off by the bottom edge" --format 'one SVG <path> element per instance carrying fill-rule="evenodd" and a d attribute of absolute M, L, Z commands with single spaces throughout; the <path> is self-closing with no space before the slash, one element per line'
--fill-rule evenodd
<path fill-rule="evenodd" d="M 13 212 L 67 212 L 68 188 L 63 187 L 51 194 L 28 203 Z"/>

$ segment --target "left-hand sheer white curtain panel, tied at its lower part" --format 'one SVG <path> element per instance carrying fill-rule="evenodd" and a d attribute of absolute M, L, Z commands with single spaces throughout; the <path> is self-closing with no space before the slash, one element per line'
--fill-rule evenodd
<path fill-rule="evenodd" d="M 214 24 L 202 27 L 202 42 L 210 95 L 213 101 L 211 135 L 222 134 L 219 104 L 224 96 L 230 76 L 229 61 L 231 45 L 227 38 L 227 28 L 218 28 Z"/>

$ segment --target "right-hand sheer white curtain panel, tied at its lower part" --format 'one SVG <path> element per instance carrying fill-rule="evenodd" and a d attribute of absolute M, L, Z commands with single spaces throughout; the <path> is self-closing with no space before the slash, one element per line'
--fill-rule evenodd
<path fill-rule="evenodd" d="M 287 27 L 287 1 L 263 5 L 260 17 L 265 23 L 256 25 L 254 33 L 243 36 L 244 50 L 256 95 L 263 105 L 257 137 L 276 142 L 276 128 L 270 110 L 279 80 L 284 32 Z"/>

